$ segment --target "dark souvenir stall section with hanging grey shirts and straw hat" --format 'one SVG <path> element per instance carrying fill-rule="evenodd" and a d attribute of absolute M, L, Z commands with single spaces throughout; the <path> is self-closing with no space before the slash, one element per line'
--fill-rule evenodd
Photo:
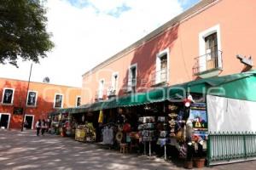
<path fill-rule="evenodd" d="M 103 115 L 102 144 L 108 145 L 109 148 L 119 149 L 122 153 L 137 151 L 139 136 L 136 112 L 126 107 L 105 110 Z"/>

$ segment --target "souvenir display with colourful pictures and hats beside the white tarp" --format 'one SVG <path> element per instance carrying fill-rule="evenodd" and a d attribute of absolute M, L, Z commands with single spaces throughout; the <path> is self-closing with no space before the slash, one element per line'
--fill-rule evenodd
<path fill-rule="evenodd" d="M 168 105 L 169 142 L 184 159 L 184 167 L 203 167 L 207 156 L 207 110 L 192 95 Z"/>

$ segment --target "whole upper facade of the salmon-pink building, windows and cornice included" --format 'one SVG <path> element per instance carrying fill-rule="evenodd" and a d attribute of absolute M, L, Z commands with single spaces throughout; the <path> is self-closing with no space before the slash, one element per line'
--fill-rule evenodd
<path fill-rule="evenodd" d="M 251 0 L 202 0 L 84 73 L 82 104 L 255 69 L 254 8 Z"/>

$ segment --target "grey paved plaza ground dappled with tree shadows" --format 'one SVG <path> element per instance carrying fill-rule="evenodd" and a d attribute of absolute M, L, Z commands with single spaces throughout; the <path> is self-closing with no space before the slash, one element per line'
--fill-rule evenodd
<path fill-rule="evenodd" d="M 256 161 L 208 170 L 254 170 Z M 0 130 L 0 169 L 86 169 L 86 170 L 175 170 L 182 164 L 135 154 L 120 154 L 102 149 L 97 144 L 84 144 L 73 139 L 49 135 L 36 136 L 33 131 Z"/>

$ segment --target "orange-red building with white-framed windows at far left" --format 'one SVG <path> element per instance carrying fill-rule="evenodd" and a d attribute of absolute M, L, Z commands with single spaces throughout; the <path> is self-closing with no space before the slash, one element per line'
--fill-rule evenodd
<path fill-rule="evenodd" d="M 0 78 L 0 127 L 20 128 L 25 113 L 28 128 L 38 119 L 47 119 L 56 109 L 80 105 L 81 88 L 41 82 Z"/>

